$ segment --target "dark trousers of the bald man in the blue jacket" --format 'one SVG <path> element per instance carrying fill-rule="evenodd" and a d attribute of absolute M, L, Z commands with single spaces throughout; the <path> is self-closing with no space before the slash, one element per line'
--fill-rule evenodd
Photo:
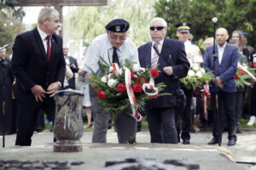
<path fill-rule="evenodd" d="M 219 128 L 222 135 L 225 123 L 227 123 L 229 139 L 236 139 L 236 93 L 218 92 L 218 111 L 216 107 L 216 93 L 211 94 L 212 97 L 212 113 L 213 113 L 213 131 L 212 135 L 215 139 L 218 135 L 218 116 Z"/>

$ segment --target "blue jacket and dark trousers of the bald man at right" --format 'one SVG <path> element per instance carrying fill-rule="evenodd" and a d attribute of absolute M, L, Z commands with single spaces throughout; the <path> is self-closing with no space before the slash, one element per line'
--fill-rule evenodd
<path fill-rule="evenodd" d="M 207 48 L 204 54 L 203 66 L 207 68 L 207 71 L 213 70 L 213 57 L 212 48 Z M 218 54 L 218 46 L 216 45 L 216 52 Z M 219 77 L 224 83 L 224 88 L 216 88 L 210 86 L 212 94 L 212 111 L 213 111 L 213 137 L 218 139 L 218 126 L 217 126 L 217 111 L 216 111 L 216 93 L 218 92 L 218 105 L 220 113 L 220 128 L 224 127 L 224 116 L 228 121 L 229 139 L 236 140 L 236 82 L 235 74 L 237 63 L 239 59 L 238 49 L 226 43 L 224 48 L 224 54 L 219 64 L 216 62 L 215 77 Z"/>

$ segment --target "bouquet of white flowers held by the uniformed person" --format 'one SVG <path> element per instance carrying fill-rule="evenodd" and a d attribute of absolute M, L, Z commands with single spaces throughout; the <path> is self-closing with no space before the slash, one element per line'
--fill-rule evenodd
<path fill-rule="evenodd" d="M 212 80 L 212 72 L 206 72 L 204 68 L 195 63 L 190 63 L 190 65 L 188 76 L 180 79 L 185 88 L 202 87 L 204 82 Z"/>

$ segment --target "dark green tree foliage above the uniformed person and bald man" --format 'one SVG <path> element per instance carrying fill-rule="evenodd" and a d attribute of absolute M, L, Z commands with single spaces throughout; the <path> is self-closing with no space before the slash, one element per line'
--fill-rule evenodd
<path fill-rule="evenodd" d="M 218 26 L 232 31 L 242 30 L 249 35 L 248 43 L 256 44 L 256 0 L 159 0 L 154 4 L 157 16 L 168 23 L 168 37 L 176 38 L 175 25 L 189 21 L 195 42 L 213 36 L 212 17 Z"/>

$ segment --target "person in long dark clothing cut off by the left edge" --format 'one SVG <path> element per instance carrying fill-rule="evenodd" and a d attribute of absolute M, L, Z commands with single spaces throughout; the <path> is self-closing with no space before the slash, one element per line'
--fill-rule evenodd
<path fill-rule="evenodd" d="M 2 48 L 0 46 L 0 48 Z M 12 88 L 14 75 L 6 48 L 0 50 L 0 134 L 16 133 L 16 116 L 13 112 Z"/>

